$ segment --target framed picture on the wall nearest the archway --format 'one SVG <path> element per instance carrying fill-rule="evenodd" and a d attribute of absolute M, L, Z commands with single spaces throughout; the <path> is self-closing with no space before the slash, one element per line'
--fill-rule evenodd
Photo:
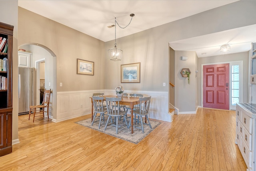
<path fill-rule="evenodd" d="M 94 75 L 94 62 L 77 59 L 77 74 Z"/>

